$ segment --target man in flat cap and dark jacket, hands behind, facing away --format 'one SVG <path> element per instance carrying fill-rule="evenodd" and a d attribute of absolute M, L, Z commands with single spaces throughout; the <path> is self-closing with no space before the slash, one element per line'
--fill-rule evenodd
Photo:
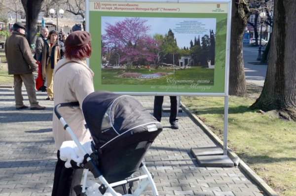
<path fill-rule="evenodd" d="M 16 109 L 26 109 L 23 103 L 22 85 L 25 84 L 31 110 L 43 110 L 45 107 L 38 104 L 35 91 L 33 71 L 37 70 L 29 43 L 25 37 L 26 28 L 22 23 L 14 23 L 13 33 L 4 44 L 5 56 L 8 63 L 8 74 L 13 74 L 14 97 Z"/>

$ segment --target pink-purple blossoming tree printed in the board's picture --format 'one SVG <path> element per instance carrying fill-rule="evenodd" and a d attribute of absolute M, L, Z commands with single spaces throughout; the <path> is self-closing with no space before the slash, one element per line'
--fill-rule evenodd
<path fill-rule="evenodd" d="M 102 35 L 102 53 L 110 50 L 120 53 L 120 63 L 126 62 L 128 69 L 140 60 L 153 62 L 155 54 L 152 49 L 157 44 L 147 35 L 150 27 L 146 22 L 147 20 L 135 17 L 125 18 L 115 25 L 106 23 L 106 34 Z"/>

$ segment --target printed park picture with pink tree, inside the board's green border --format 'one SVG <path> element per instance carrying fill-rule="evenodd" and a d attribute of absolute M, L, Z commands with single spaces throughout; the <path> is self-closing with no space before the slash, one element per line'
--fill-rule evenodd
<path fill-rule="evenodd" d="M 216 18 L 101 17 L 101 83 L 214 85 Z"/>

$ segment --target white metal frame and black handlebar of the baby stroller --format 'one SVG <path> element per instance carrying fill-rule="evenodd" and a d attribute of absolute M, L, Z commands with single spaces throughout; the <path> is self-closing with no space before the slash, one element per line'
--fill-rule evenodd
<path fill-rule="evenodd" d="M 93 160 L 90 157 L 90 155 L 86 152 L 86 150 L 80 144 L 80 142 L 77 139 L 77 137 L 75 136 L 74 132 L 71 130 L 71 128 L 68 126 L 68 124 L 66 123 L 66 121 L 64 120 L 64 118 L 59 113 L 58 109 L 60 107 L 79 107 L 79 102 L 68 102 L 68 103 L 60 103 L 60 104 L 57 104 L 54 107 L 54 112 L 55 112 L 56 116 L 58 117 L 58 119 L 60 120 L 60 122 L 63 124 L 64 129 L 69 133 L 69 135 L 71 136 L 71 138 L 74 140 L 74 142 L 77 145 L 78 149 L 81 152 L 83 152 L 83 154 L 85 155 L 84 157 L 87 156 L 86 161 L 87 161 L 87 163 L 90 164 L 90 168 L 92 169 L 91 172 L 94 174 L 94 177 L 95 178 L 98 177 L 99 180 L 100 180 L 100 182 L 102 183 L 102 185 L 99 187 L 99 191 L 101 192 L 102 195 L 104 195 L 106 193 L 106 191 L 108 190 L 111 193 L 112 196 L 118 196 L 118 194 L 113 189 L 113 187 L 117 187 L 117 186 L 120 186 L 120 185 L 125 186 L 125 184 L 132 183 L 132 182 L 140 181 L 141 180 L 141 182 L 138 184 L 138 187 L 134 191 L 134 193 L 132 193 L 132 194 L 125 194 L 125 195 L 122 195 L 122 196 L 140 196 L 146 190 L 146 188 L 148 187 L 149 184 L 150 184 L 150 187 L 152 189 L 153 196 L 158 196 L 156 185 L 155 185 L 155 183 L 153 181 L 153 174 L 151 174 L 148 171 L 148 168 L 143 163 L 143 161 L 141 163 L 142 166 L 140 166 L 140 167 L 142 168 L 142 171 L 145 173 L 144 175 L 140 175 L 138 177 L 132 177 L 132 178 L 124 179 L 124 180 L 121 180 L 121 181 L 118 181 L 118 182 L 114 182 L 114 183 L 109 184 L 108 181 L 102 175 L 101 171 L 96 167 L 96 165 L 93 162 Z M 85 192 L 86 192 L 86 189 L 87 189 L 87 187 L 86 187 L 86 180 L 87 180 L 88 171 L 89 171 L 89 169 L 84 168 L 84 176 L 83 176 L 81 196 L 87 196 Z"/>

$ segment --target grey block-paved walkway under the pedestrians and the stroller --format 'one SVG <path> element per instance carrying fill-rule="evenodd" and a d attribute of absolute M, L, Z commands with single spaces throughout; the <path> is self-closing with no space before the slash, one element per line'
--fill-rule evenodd
<path fill-rule="evenodd" d="M 0 196 L 51 195 L 56 151 L 51 131 L 53 101 L 46 97 L 37 92 L 45 111 L 19 111 L 13 89 L 0 88 Z M 137 98 L 152 112 L 153 97 Z M 24 102 L 29 104 L 27 96 Z M 164 105 L 169 105 L 168 97 Z M 216 144 L 185 112 L 179 113 L 179 130 L 170 129 L 168 117 L 164 113 L 164 130 L 145 157 L 160 196 L 264 196 L 240 167 L 200 167 L 190 148 Z"/>

